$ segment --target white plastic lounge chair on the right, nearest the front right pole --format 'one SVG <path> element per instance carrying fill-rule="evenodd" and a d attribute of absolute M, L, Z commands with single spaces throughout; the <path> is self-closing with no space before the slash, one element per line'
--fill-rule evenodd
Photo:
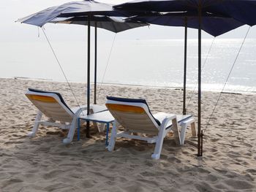
<path fill-rule="evenodd" d="M 165 112 L 152 115 L 144 99 L 124 99 L 110 96 L 107 96 L 107 99 L 106 106 L 115 118 L 108 145 L 109 151 L 113 150 L 117 137 L 140 139 L 148 143 L 156 143 L 151 158 L 159 159 L 162 143 L 169 131 L 173 131 L 178 145 L 184 145 L 188 125 L 191 125 L 192 135 L 196 135 L 195 120 L 192 118 L 192 115 L 173 115 Z M 125 131 L 118 132 L 118 124 L 121 124 Z M 180 130 L 178 126 L 181 126 Z M 141 137 L 133 133 L 150 134 L 154 136 Z"/>

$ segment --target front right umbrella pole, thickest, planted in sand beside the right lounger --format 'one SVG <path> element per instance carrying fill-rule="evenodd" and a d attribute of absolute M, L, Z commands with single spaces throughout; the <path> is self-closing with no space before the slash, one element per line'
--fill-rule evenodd
<path fill-rule="evenodd" d="M 201 134 L 201 28 L 202 28 L 202 1 L 198 6 L 198 128 L 197 128 L 197 156 L 203 155 L 203 135 Z"/>

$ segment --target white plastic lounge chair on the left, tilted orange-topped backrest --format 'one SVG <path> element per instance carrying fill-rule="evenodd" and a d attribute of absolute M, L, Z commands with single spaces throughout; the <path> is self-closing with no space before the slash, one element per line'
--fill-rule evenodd
<path fill-rule="evenodd" d="M 37 112 L 34 127 L 29 133 L 29 137 L 34 137 L 37 134 L 39 125 L 42 124 L 45 126 L 56 126 L 63 129 L 69 129 L 67 138 L 65 138 L 63 142 L 64 144 L 72 142 L 75 128 L 77 128 L 78 115 L 82 112 L 86 115 L 87 107 L 81 106 L 70 109 L 61 94 L 56 92 L 40 91 L 29 88 L 26 92 L 26 96 L 39 110 Z M 91 105 L 90 107 L 93 112 L 107 110 L 105 106 Z M 49 120 L 41 120 L 42 114 L 48 117 Z"/>

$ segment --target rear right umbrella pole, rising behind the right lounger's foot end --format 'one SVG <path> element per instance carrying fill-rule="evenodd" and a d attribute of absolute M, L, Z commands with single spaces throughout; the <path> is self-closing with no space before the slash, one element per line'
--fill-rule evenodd
<path fill-rule="evenodd" d="M 183 115 L 186 115 L 186 83 L 187 83 L 187 17 L 185 18 L 184 41 L 184 83 L 183 83 Z"/>

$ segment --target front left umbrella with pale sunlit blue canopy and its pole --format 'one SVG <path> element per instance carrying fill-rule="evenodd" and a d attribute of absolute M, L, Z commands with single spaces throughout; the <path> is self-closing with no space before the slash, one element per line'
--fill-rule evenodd
<path fill-rule="evenodd" d="M 55 7 L 49 7 L 40 12 L 36 12 L 26 18 L 21 18 L 18 21 L 20 23 L 27 23 L 34 26 L 42 27 L 46 23 L 56 18 L 69 18 L 78 16 L 87 16 L 87 26 L 88 26 L 88 55 L 87 55 L 87 115 L 90 113 L 90 37 L 91 37 L 91 18 L 94 15 L 107 15 L 116 17 L 127 17 L 132 14 L 127 11 L 121 11 L 113 9 L 110 4 L 104 4 L 93 0 L 84 1 L 72 1 L 66 4 L 61 4 Z M 89 136 L 89 122 L 86 126 L 86 136 Z"/>

